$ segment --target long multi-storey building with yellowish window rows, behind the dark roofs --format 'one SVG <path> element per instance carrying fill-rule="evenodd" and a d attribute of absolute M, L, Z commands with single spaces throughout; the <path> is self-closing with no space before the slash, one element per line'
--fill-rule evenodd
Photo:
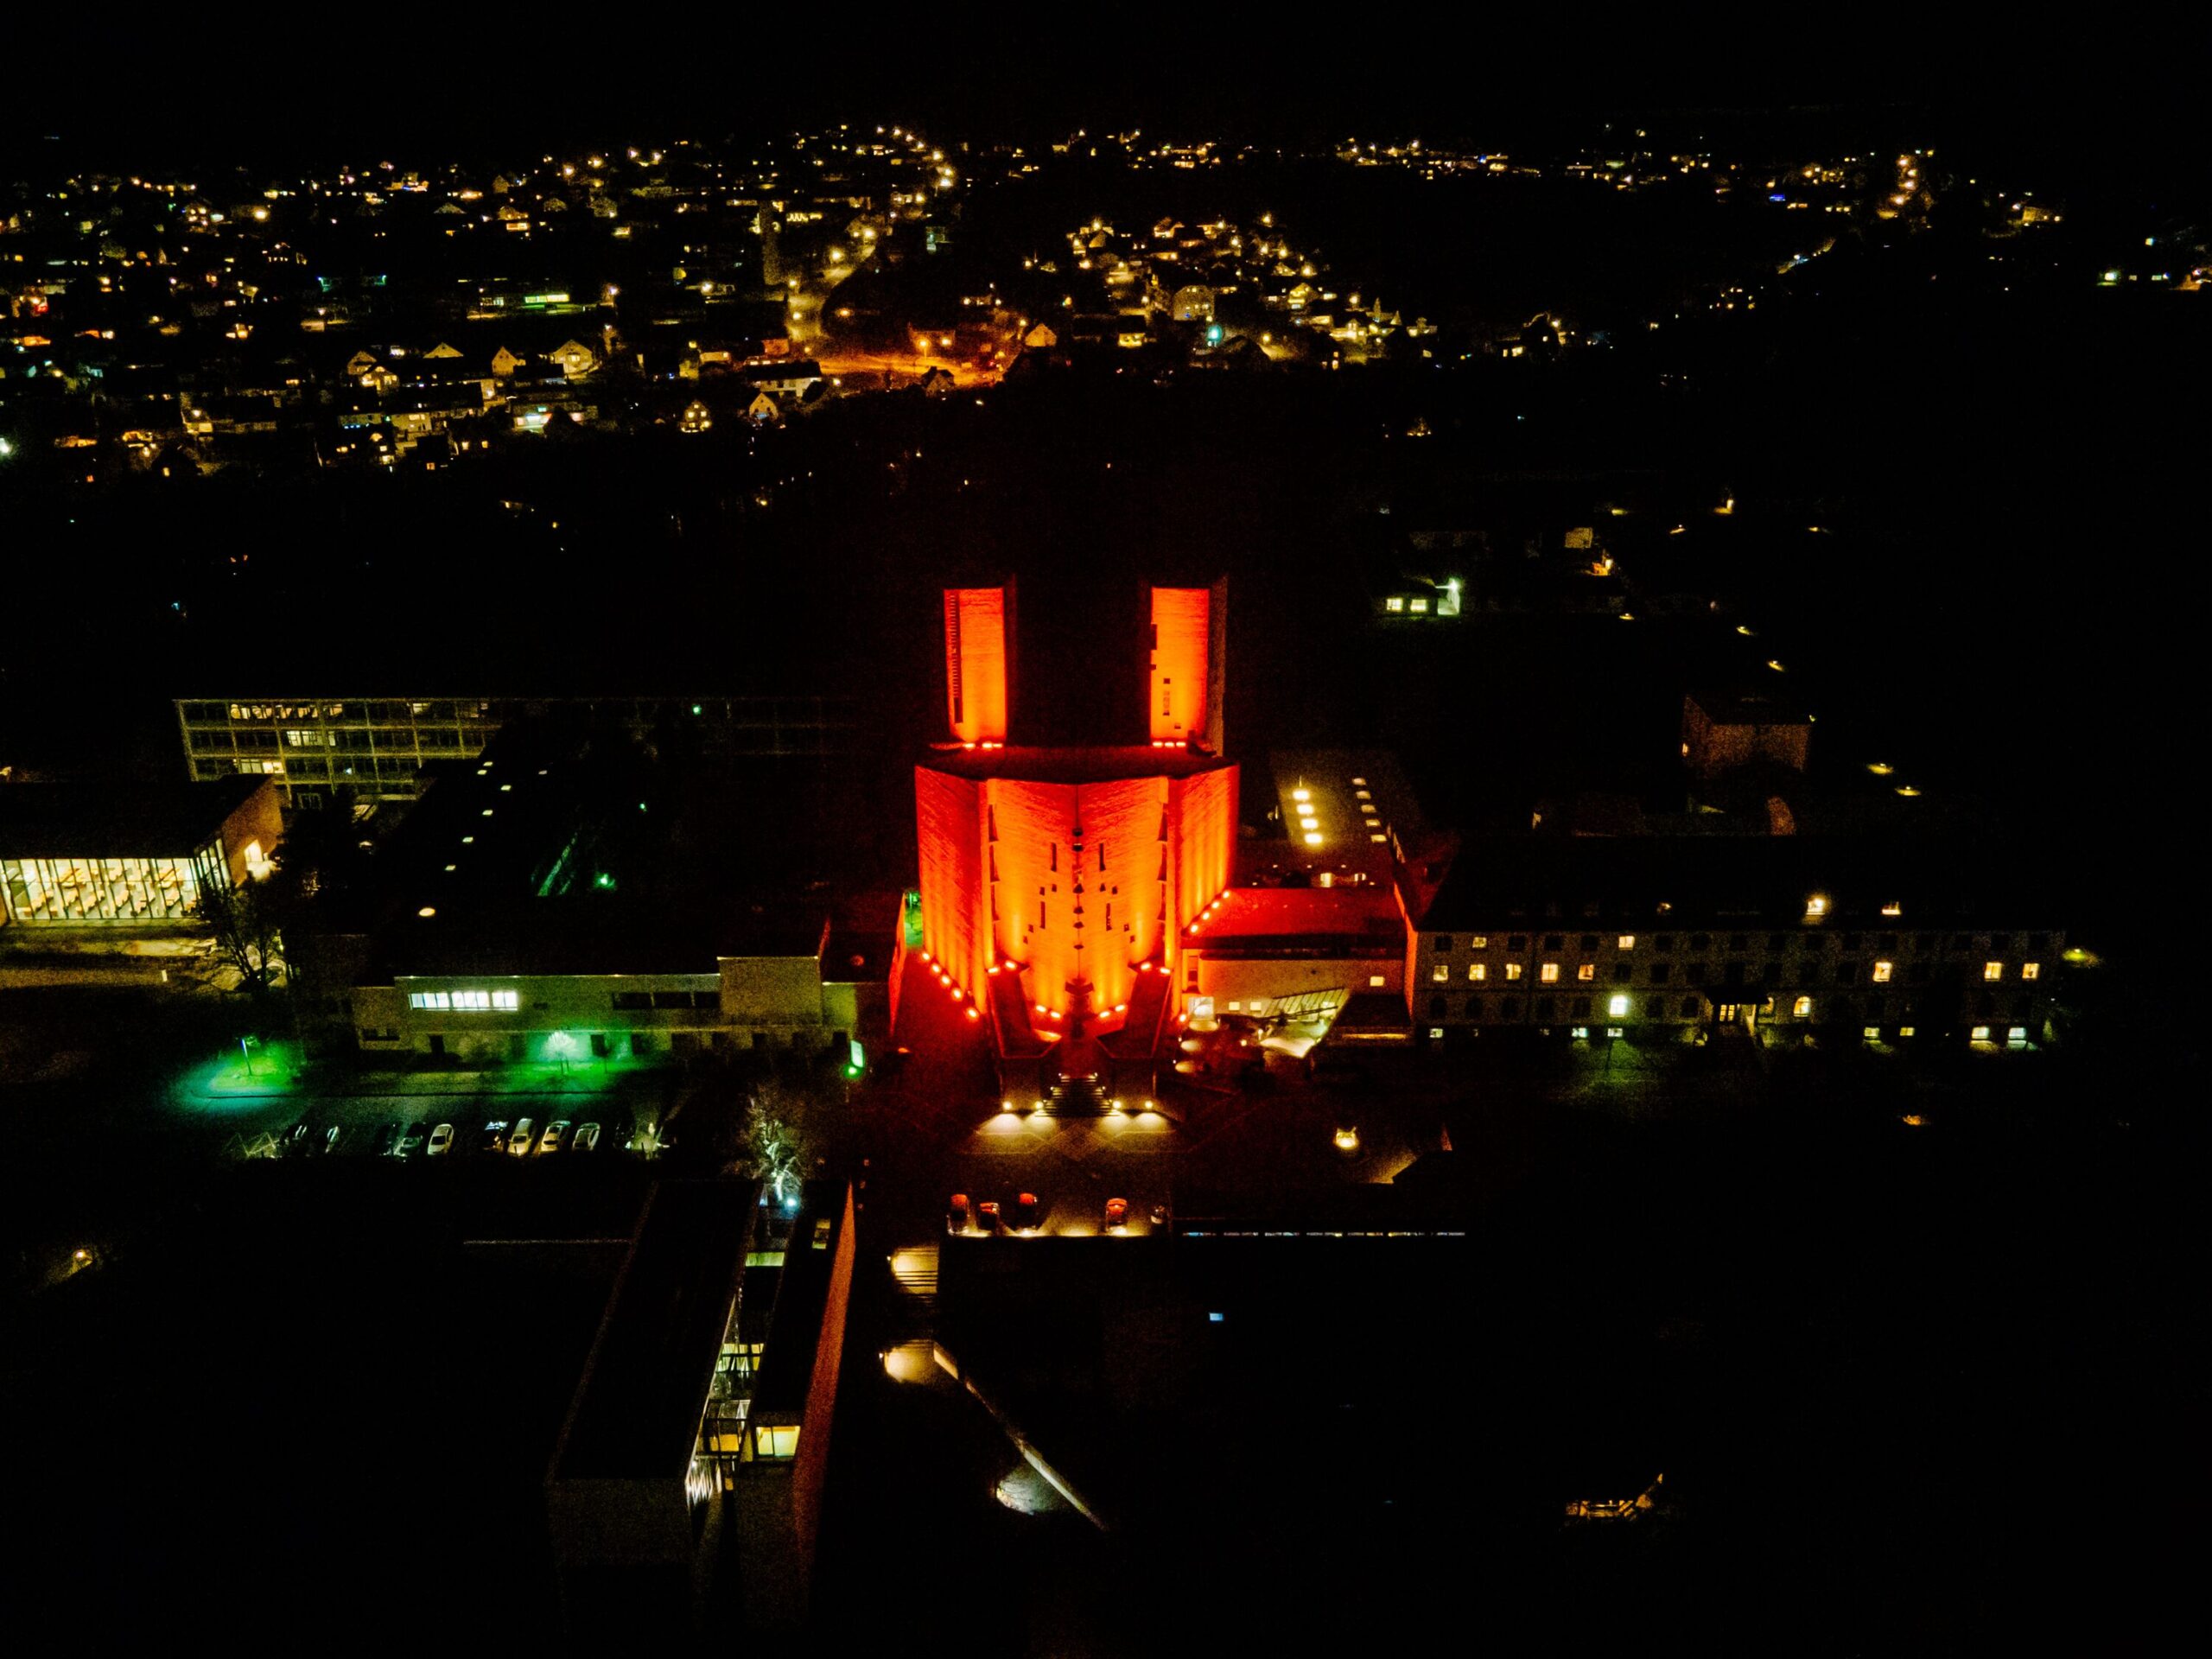
<path fill-rule="evenodd" d="M 473 761 L 504 723 L 580 708 L 637 737 L 690 726 L 721 754 L 843 754 L 838 697 L 292 697 L 177 699 L 192 779 L 265 776 L 285 805 L 414 801 L 429 761 Z"/>

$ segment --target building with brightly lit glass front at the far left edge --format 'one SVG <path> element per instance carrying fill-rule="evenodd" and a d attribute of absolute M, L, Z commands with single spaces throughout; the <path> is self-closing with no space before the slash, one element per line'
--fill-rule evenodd
<path fill-rule="evenodd" d="M 208 887 L 270 874 L 283 816 L 265 776 L 0 785 L 0 925 L 186 922 Z"/>

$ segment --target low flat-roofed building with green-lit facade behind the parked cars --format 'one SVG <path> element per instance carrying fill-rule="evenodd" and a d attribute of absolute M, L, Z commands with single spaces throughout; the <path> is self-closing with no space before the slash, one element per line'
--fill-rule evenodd
<path fill-rule="evenodd" d="M 721 768 L 568 710 L 434 776 L 288 940 L 323 1046 L 588 1064 L 838 1051 L 887 1022 L 896 894 L 730 885 L 759 843 L 730 841 L 750 818 Z"/>

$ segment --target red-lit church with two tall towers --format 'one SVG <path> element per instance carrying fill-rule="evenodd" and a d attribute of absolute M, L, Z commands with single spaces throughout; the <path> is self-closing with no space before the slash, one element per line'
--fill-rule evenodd
<path fill-rule="evenodd" d="M 1150 588 L 1144 706 L 1093 708 L 1102 743 L 1037 743 L 1015 591 L 945 591 L 945 726 L 914 772 L 922 947 L 1011 1079 L 1150 1075 L 1192 920 L 1228 887 L 1237 765 L 1221 754 L 1228 584 Z M 1064 666 L 1064 664 L 1062 664 Z M 1135 688 L 1102 672 L 1091 686 Z M 1064 726 L 1064 723 L 1062 723 Z"/>

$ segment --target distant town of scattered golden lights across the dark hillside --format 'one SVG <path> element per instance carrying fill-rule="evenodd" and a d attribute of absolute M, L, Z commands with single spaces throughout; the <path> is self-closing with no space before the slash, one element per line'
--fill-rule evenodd
<path fill-rule="evenodd" d="M 1440 367 L 1604 349 L 1686 307 L 1787 303 L 1838 241 L 1938 221 L 1986 250 L 1982 285 L 2048 281 L 2039 243 L 2066 223 L 2033 181 L 1962 177 L 1933 153 L 1747 159 L 1621 139 L 1559 155 L 1345 139 L 1283 157 L 1141 133 L 971 150 L 838 126 L 498 170 L 363 157 L 305 177 L 18 177 L 0 188 L 0 440 L 15 465 L 97 489 L 228 467 L 440 469 L 549 434 L 743 431 L 1084 352 L 1150 374 Z M 1770 217 L 1781 254 L 1686 285 L 1663 312 L 1577 314 L 1562 296 L 1469 327 L 1383 292 L 1360 248 L 1318 248 L 1287 206 L 1243 221 L 1093 215 L 1029 243 L 1000 215 L 971 234 L 971 204 L 1042 197 L 1077 166 L 1126 173 L 1121 195 L 1141 201 L 1161 170 L 1285 161 Z M 2174 230 L 2146 223 L 2126 252 L 2097 250 L 2057 281 L 2197 292 L 2212 250 Z"/>

